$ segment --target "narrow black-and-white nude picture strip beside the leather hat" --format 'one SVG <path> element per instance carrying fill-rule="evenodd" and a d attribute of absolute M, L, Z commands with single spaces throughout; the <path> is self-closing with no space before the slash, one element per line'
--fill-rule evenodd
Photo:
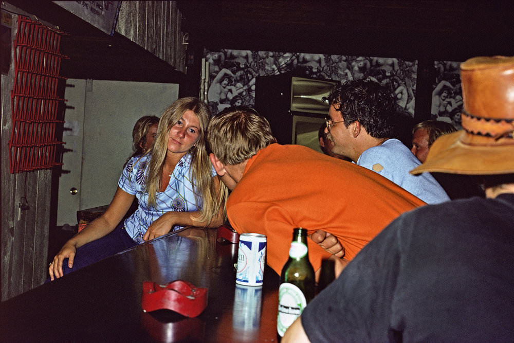
<path fill-rule="evenodd" d="M 432 91 L 433 120 L 446 121 L 461 128 L 462 89 L 461 62 L 435 61 L 435 82 Z"/>

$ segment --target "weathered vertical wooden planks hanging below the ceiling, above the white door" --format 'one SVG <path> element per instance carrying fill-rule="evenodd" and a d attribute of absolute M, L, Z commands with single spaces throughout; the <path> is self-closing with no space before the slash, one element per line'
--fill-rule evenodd
<path fill-rule="evenodd" d="M 186 73 L 187 45 L 175 1 L 123 1 L 116 32 Z"/>

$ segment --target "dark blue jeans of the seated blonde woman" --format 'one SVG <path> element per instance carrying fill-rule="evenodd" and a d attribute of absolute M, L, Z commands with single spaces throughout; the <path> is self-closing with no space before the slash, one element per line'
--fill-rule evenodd
<path fill-rule="evenodd" d="M 121 222 L 113 232 L 77 248 L 73 267 L 68 267 L 68 259 L 64 259 L 63 273 L 66 275 L 75 272 L 75 270 L 118 254 L 118 252 L 136 245 L 137 243 L 128 236 L 128 233 L 123 227 L 123 222 Z M 50 281 L 50 278 L 46 280 L 46 282 L 48 281 Z"/>

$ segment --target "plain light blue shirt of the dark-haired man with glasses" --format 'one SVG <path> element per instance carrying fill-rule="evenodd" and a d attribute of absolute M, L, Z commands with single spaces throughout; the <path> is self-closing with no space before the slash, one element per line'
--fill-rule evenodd
<path fill-rule="evenodd" d="M 430 173 L 421 173 L 420 175 L 409 173 L 420 164 L 421 162 L 410 152 L 409 148 L 395 138 L 365 150 L 357 160 L 357 165 L 390 179 L 427 204 L 449 201 L 448 194 Z"/>

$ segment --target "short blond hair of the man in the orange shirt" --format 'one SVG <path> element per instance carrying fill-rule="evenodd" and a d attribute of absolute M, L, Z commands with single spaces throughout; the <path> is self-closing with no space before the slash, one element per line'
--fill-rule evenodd
<path fill-rule="evenodd" d="M 240 164 L 274 142 L 269 122 L 249 107 L 230 107 L 207 129 L 210 150 L 226 165 Z"/>

